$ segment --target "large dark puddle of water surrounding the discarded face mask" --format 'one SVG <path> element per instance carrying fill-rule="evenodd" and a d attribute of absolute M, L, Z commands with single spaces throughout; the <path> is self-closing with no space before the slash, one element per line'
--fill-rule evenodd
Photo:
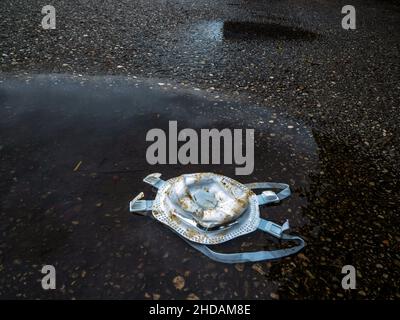
<path fill-rule="evenodd" d="M 277 282 L 265 273 L 251 265 L 238 271 L 214 263 L 161 224 L 128 213 L 129 200 L 140 191 L 154 197 L 142 182 L 151 172 L 171 178 L 214 171 L 243 183 L 288 182 L 292 197 L 263 208 L 262 215 L 279 223 L 289 218 L 294 230 L 307 223 L 301 214 L 307 205 L 303 191 L 318 162 L 310 130 L 266 109 L 215 103 L 118 77 L 42 75 L 0 83 L 2 251 L 7 257 L 2 263 L 7 274 L 32 274 L 32 279 L 0 279 L 9 288 L 3 295 L 14 296 L 19 291 L 12 288 L 21 281 L 27 283 L 27 297 L 45 298 L 34 267 L 45 261 L 61 269 L 66 288 L 54 298 L 93 298 L 99 292 L 103 298 L 155 293 L 183 299 L 191 292 L 204 299 L 270 298 Z M 146 133 L 151 128 L 167 132 L 170 120 L 178 121 L 178 130 L 254 128 L 254 173 L 235 177 L 236 165 L 149 165 Z M 222 247 L 260 250 L 271 248 L 271 239 L 255 232 Z M 267 270 L 266 264 L 261 268 Z M 85 278 L 76 282 L 82 272 Z M 187 274 L 188 291 L 173 287 L 178 274 Z"/>

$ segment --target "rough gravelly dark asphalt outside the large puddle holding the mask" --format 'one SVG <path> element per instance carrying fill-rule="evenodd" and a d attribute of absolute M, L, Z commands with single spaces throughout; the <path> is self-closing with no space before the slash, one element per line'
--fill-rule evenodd
<path fill-rule="evenodd" d="M 265 281 L 280 283 L 279 298 L 400 298 L 395 1 L 353 1 L 353 31 L 341 28 L 342 1 L 52 4 L 55 30 L 40 26 L 41 1 L 0 3 L 3 73 L 165 79 L 305 122 L 320 162 L 304 190 L 310 223 L 299 230 L 310 244 L 296 258 L 262 264 Z M 341 266 L 353 263 L 357 290 L 343 291 Z"/>

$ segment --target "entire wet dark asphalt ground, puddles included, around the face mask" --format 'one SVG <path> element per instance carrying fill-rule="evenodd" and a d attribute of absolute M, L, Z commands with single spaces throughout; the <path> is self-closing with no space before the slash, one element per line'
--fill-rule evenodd
<path fill-rule="evenodd" d="M 399 6 L 354 1 L 358 28 L 348 32 L 340 26 L 344 4 L 54 1 L 57 29 L 46 31 L 42 3 L 3 1 L 0 296 L 399 298 Z M 146 80 L 157 93 L 143 98 L 150 89 L 128 89 L 139 79 L 105 78 L 118 83 L 105 90 L 104 79 L 67 77 L 62 90 L 50 90 L 36 80 L 28 87 L 24 77 L 10 80 L 23 72 L 162 80 Z M 159 81 L 172 85 L 160 91 Z M 200 88 L 205 97 L 183 88 Z M 40 90 L 50 91 L 47 100 Z M 170 91 L 178 97 L 171 99 Z M 122 94 L 126 100 L 118 98 L 109 110 L 105 102 Z M 144 107 L 153 95 L 153 107 Z M 132 99 L 144 108 L 143 121 L 129 108 Z M 222 101 L 209 110 L 214 100 Z M 217 109 L 231 106 L 234 113 Z M 201 121 L 180 112 L 184 108 Z M 273 114 L 280 123 L 301 124 L 289 131 L 292 146 L 279 131 L 277 139 L 266 138 Z M 143 161 L 138 134 L 168 119 L 194 128 L 213 121 L 249 125 L 265 133 L 256 139 L 256 163 L 272 171 L 258 165 L 246 179 L 294 186 L 293 199 L 271 210 L 277 221 L 290 213 L 294 231 L 308 243 L 301 255 L 224 266 L 162 226 L 127 214 L 124 205 L 142 190 L 138 181 L 148 170 L 168 177 L 194 171 L 153 170 Z M 281 150 L 279 156 L 270 148 Z M 82 170 L 73 172 L 78 161 Z M 231 167 L 210 169 L 232 175 Z M 254 235 L 245 244 L 256 248 L 265 239 Z M 38 283 L 48 259 L 62 270 L 60 290 L 51 293 Z M 357 268 L 357 289 L 350 292 L 340 284 L 345 264 Z M 185 279 L 182 290 L 172 282 L 178 275 Z"/>

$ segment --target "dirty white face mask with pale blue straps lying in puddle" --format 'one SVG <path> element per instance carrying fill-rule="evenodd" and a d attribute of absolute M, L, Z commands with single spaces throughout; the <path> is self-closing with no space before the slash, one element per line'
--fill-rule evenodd
<path fill-rule="evenodd" d="M 167 225 L 193 248 L 209 258 L 224 263 L 273 260 L 289 256 L 304 247 L 300 237 L 284 233 L 289 222 L 280 226 L 260 217 L 259 206 L 278 203 L 290 196 L 287 184 L 257 182 L 241 184 L 214 173 L 184 174 L 167 181 L 153 173 L 143 179 L 158 189 L 154 200 L 141 200 L 143 192 L 129 204 L 131 212 L 151 211 L 152 216 Z M 270 190 L 256 195 L 254 189 Z M 147 214 L 146 214 L 147 215 Z M 261 230 L 297 246 L 256 252 L 218 253 L 207 245 L 219 244 L 241 235 Z"/>

